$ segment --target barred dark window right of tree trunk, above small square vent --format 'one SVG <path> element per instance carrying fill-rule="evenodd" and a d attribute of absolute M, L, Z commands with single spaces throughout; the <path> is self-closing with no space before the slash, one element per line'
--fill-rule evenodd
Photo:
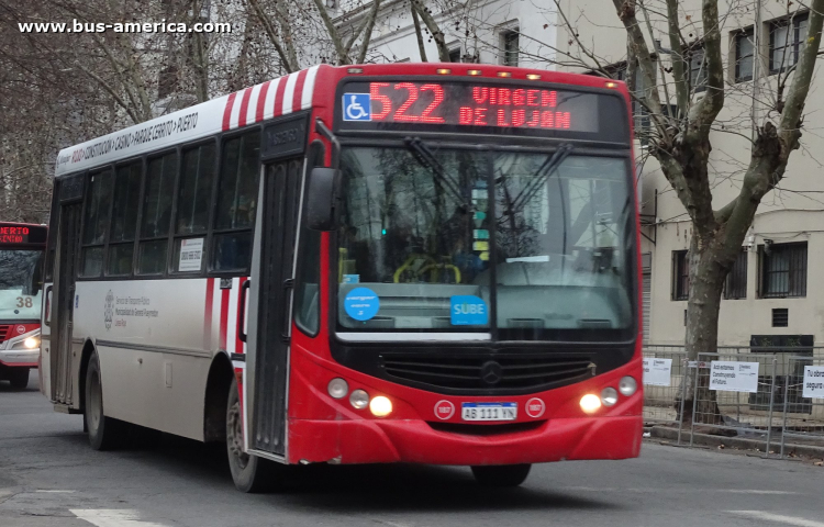
<path fill-rule="evenodd" d="M 806 296 L 806 243 L 761 246 L 761 298 Z"/>

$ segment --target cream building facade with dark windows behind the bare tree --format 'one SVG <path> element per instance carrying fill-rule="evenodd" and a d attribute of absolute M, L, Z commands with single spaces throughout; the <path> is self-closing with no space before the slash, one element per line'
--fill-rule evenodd
<path fill-rule="evenodd" d="M 437 5 L 439 0 L 428 2 Z M 552 4 L 541 7 L 539 4 Z M 691 70 L 691 98 L 702 97 L 705 78 L 701 48 L 701 2 L 681 5 L 681 32 L 690 44 L 667 49 L 667 21 L 650 14 L 648 29 L 670 94 L 673 57 L 684 57 Z M 420 60 L 414 21 L 408 2 L 386 1 L 372 37 L 376 60 Z M 806 37 L 806 13 L 787 14 L 775 3 L 720 2 L 726 103 L 712 132 L 711 180 L 714 205 L 723 206 L 741 190 L 749 164 L 753 123 L 776 115 L 780 81 L 791 80 L 792 65 Z M 641 13 L 639 13 L 641 14 Z M 608 67 L 621 78 L 626 64 L 626 32 L 612 2 L 605 0 L 444 0 L 435 19 L 446 34 L 453 60 L 506 64 L 553 70 L 591 71 Z M 642 19 L 643 20 L 643 19 Z M 655 41 L 655 43 L 653 43 Z M 432 40 L 424 42 L 437 60 Z M 824 281 L 815 279 L 824 258 L 824 135 L 815 115 L 824 111 L 824 82 L 814 77 L 805 112 L 802 148 L 794 152 L 778 189 L 767 194 L 727 278 L 719 340 L 728 346 L 824 345 Z M 824 88 L 824 85 L 822 85 Z M 784 89 L 786 93 L 786 89 Z M 671 101 L 673 102 L 673 101 Z M 644 120 L 636 119 L 644 130 Z M 641 134 L 643 135 L 643 134 Z M 682 345 L 689 270 L 686 253 L 692 234 L 686 210 L 638 141 L 638 195 L 643 214 L 645 340 Z M 821 156 L 821 157 L 820 157 Z"/>

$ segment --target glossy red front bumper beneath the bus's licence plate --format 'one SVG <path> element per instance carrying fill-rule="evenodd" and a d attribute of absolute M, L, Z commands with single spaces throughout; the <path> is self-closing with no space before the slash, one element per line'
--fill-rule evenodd
<path fill-rule="evenodd" d="M 525 431 L 469 435 L 424 421 L 289 422 L 292 462 L 516 464 L 636 458 L 641 416 L 555 418 Z M 300 440 L 294 440 L 300 438 Z"/>

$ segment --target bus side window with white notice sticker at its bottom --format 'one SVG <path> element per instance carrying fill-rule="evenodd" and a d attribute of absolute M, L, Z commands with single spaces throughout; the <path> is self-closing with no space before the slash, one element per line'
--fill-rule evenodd
<path fill-rule="evenodd" d="M 203 270 L 202 255 L 212 203 L 214 160 L 214 142 L 183 150 L 180 188 L 177 191 L 175 254 L 171 258 L 171 270 L 175 272 Z"/>

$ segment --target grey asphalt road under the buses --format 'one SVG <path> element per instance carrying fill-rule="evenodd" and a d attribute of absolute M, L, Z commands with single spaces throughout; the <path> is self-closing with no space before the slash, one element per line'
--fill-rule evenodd
<path fill-rule="evenodd" d="M 329 467 L 316 478 L 247 495 L 221 449 L 165 438 L 96 452 L 79 416 L 0 383 L 1 527 L 824 527 L 824 468 L 655 444 L 632 461 L 537 466 L 509 491 L 477 486 L 464 468 Z"/>

